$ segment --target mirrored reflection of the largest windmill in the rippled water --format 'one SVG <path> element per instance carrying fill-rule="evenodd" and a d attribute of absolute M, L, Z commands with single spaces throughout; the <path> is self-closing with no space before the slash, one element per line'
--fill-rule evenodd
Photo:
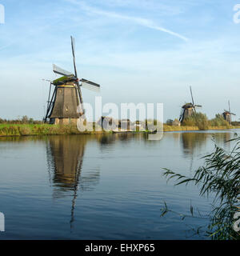
<path fill-rule="evenodd" d="M 73 191 L 71 207 L 71 225 L 74 222 L 74 209 L 78 190 L 93 190 L 98 185 L 100 171 L 98 166 L 82 170 L 88 136 L 54 136 L 50 137 L 47 146 L 47 163 L 50 183 L 54 186 L 54 198 L 69 196 Z"/>

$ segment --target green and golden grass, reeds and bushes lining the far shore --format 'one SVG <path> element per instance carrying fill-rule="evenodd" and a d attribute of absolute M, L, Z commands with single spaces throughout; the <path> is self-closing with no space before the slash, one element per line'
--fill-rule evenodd
<path fill-rule="evenodd" d="M 240 128 L 239 122 L 232 122 L 232 126 L 221 114 L 217 114 L 214 119 L 208 120 L 206 114 L 196 113 L 186 118 L 181 126 L 174 126 L 174 122 L 178 120 L 168 120 L 164 124 L 164 132 L 173 131 L 197 131 L 197 130 L 230 130 Z M 156 120 L 150 121 L 154 125 L 157 124 Z M 92 123 L 91 123 L 92 125 Z M 41 121 L 34 121 L 32 118 L 26 116 L 18 120 L 3 120 L 0 118 L 0 137 L 10 136 L 46 136 L 46 135 L 70 135 L 70 134 L 111 134 L 114 131 L 95 129 L 93 123 L 93 131 L 78 131 L 77 126 L 74 125 L 50 125 Z M 130 133 L 150 133 L 151 130 L 127 131 Z M 122 131 L 124 133 L 124 130 Z"/>

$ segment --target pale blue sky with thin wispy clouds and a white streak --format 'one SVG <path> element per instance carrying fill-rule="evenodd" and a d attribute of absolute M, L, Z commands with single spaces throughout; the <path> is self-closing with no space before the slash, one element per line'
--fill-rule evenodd
<path fill-rule="evenodd" d="M 194 101 L 214 118 L 240 118 L 240 0 L 0 0 L 0 118 L 42 119 L 52 64 L 73 71 L 76 39 L 85 102 L 163 103 L 164 120 Z M 0 12 L 1 14 L 1 12 Z M 239 15 L 240 17 L 240 15 Z"/>

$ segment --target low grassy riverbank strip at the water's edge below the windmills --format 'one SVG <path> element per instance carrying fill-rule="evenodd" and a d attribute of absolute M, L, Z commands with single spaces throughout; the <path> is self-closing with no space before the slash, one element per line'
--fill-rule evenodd
<path fill-rule="evenodd" d="M 208 130 L 230 130 L 238 129 L 240 126 L 212 126 Z M 166 126 L 164 125 L 164 131 L 190 131 L 199 130 L 197 126 Z M 86 131 L 79 132 L 76 126 L 53 126 L 48 124 L 39 125 L 0 125 L 0 137 L 9 136 L 41 136 L 41 135 L 64 135 L 64 134 L 107 134 L 106 131 Z"/>

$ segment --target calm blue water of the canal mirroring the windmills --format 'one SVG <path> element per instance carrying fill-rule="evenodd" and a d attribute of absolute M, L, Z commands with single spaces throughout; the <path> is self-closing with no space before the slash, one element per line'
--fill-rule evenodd
<path fill-rule="evenodd" d="M 211 198 L 195 186 L 174 186 L 162 168 L 191 176 L 202 155 L 226 150 L 232 131 L 166 133 L 150 142 L 143 134 L 0 138 L 0 239 L 207 239 L 193 236 Z"/>

